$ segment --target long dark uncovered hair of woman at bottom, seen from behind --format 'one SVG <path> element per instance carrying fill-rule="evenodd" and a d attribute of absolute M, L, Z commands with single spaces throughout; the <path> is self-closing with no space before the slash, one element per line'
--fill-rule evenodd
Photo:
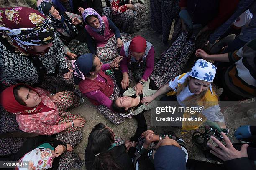
<path fill-rule="evenodd" d="M 121 170 L 120 166 L 115 163 L 110 146 L 115 142 L 113 132 L 103 123 L 95 125 L 88 137 L 87 147 L 90 153 L 95 156 L 92 163 L 92 170 Z"/>

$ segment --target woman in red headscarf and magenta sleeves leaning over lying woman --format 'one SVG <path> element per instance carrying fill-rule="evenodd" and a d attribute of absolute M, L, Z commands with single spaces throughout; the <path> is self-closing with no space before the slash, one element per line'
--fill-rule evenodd
<path fill-rule="evenodd" d="M 132 71 L 133 77 L 137 82 L 144 83 L 148 80 L 154 69 L 154 54 L 153 45 L 141 36 L 136 36 L 123 45 L 120 52 L 120 55 L 124 57 L 121 61 L 121 70 L 123 72 L 121 86 L 123 89 L 129 87 L 128 68 Z M 137 94 L 143 92 L 141 83 L 134 87 Z"/>

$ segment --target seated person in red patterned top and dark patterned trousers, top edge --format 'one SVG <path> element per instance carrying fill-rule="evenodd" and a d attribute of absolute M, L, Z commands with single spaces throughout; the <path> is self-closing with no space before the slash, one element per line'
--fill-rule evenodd
<path fill-rule="evenodd" d="M 146 9 L 140 3 L 132 4 L 131 0 L 106 0 L 110 6 L 113 23 L 123 32 L 132 33 L 146 23 Z"/>

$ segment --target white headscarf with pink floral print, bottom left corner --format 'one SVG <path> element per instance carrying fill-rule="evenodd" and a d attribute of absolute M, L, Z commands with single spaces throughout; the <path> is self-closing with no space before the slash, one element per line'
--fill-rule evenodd
<path fill-rule="evenodd" d="M 18 162 L 28 162 L 28 168 L 18 167 L 18 170 L 46 170 L 52 167 L 51 149 L 36 148 L 23 155 Z"/>

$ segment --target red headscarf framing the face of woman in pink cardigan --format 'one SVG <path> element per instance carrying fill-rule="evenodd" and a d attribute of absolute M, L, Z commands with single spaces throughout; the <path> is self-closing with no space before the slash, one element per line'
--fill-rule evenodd
<path fill-rule="evenodd" d="M 8 112 L 14 113 L 14 114 L 20 114 L 20 113 L 21 114 L 36 114 L 36 113 L 40 113 L 40 112 L 49 112 L 49 111 L 53 110 L 52 108 L 49 108 L 46 105 L 44 105 L 42 101 L 39 103 L 39 105 L 37 105 L 34 108 L 20 105 L 20 103 L 15 99 L 14 94 L 13 94 L 13 88 L 16 87 L 17 85 L 26 85 L 26 84 L 19 83 L 19 84 L 13 85 L 11 87 L 8 87 L 5 90 L 3 90 L 3 92 L 0 95 L 1 105 L 5 108 L 5 110 L 7 110 Z M 26 86 L 27 86 L 27 88 L 35 91 L 38 94 L 38 92 L 35 89 L 30 87 L 29 85 L 26 85 Z M 39 95 L 39 97 L 41 97 L 41 96 Z"/>

